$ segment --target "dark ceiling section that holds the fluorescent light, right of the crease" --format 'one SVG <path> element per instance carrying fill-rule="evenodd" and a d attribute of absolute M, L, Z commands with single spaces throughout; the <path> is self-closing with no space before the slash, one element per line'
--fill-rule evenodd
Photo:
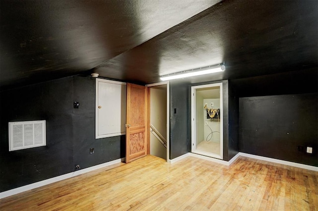
<path fill-rule="evenodd" d="M 317 71 L 317 1 L 222 1 L 108 60 L 97 71 L 149 83 L 157 82 L 158 75 L 216 64 L 225 64 L 227 70 L 188 80 Z"/>

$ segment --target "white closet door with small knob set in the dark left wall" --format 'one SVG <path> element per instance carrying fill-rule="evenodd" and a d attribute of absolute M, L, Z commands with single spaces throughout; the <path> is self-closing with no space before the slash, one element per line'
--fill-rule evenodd
<path fill-rule="evenodd" d="M 96 138 L 126 134 L 126 83 L 96 79 Z"/>

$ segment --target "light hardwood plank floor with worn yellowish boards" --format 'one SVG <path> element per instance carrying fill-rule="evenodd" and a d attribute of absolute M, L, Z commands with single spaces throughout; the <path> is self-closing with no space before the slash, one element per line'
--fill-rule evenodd
<path fill-rule="evenodd" d="M 245 157 L 225 166 L 146 156 L 4 198 L 0 210 L 315 211 L 318 173 Z"/>

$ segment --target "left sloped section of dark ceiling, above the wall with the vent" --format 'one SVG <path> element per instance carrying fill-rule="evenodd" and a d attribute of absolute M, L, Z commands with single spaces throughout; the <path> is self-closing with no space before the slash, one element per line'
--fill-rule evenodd
<path fill-rule="evenodd" d="M 1 86 L 90 70 L 219 0 L 1 0 Z"/>

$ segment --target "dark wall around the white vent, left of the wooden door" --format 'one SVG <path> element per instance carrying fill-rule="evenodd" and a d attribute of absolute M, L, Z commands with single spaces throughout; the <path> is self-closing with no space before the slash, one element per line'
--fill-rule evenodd
<path fill-rule="evenodd" d="M 125 136 L 95 139 L 95 80 L 68 77 L 0 93 L 0 192 L 125 155 Z M 73 108 L 73 102 L 79 108 Z M 8 151 L 8 122 L 46 120 L 47 145 Z M 95 148 L 89 154 L 89 148 Z"/>

